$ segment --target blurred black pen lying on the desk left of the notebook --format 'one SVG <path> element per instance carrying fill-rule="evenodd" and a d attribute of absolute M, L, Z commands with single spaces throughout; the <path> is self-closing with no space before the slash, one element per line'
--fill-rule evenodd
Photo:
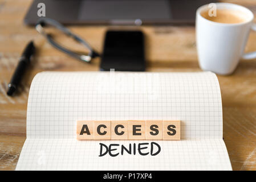
<path fill-rule="evenodd" d="M 22 56 L 19 59 L 18 66 L 13 73 L 13 77 L 11 77 L 10 84 L 8 84 L 8 90 L 7 90 L 8 96 L 12 96 L 15 90 L 17 90 L 17 87 L 21 82 L 27 67 L 30 65 L 31 56 L 34 55 L 34 53 L 35 53 L 35 46 L 34 46 L 34 43 L 31 41 L 29 44 L 27 44 L 27 47 L 23 51 Z"/>

